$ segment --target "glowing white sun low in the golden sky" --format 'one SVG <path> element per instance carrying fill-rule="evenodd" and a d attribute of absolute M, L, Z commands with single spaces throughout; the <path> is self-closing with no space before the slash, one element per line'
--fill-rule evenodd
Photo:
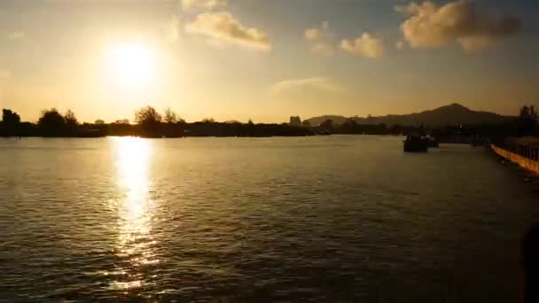
<path fill-rule="evenodd" d="M 113 82 L 122 88 L 148 87 L 157 77 L 157 52 L 143 43 L 113 45 L 107 64 Z"/>

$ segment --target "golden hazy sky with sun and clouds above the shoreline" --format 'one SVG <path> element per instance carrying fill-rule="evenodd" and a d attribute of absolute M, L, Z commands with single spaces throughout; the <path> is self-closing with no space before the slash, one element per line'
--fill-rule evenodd
<path fill-rule="evenodd" d="M 0 0 L 0 107 L 185 120 L 539 105 L 529 0 Z"/>

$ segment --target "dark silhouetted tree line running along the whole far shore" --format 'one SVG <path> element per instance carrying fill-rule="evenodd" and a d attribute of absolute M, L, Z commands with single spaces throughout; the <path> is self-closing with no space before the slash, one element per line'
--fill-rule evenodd
<path fill-rule="evenodd" d="M 520 108 L 519 116 L 500 124 L 447 126 L 445 128 L 417 128 L 401 125 L 359 124 L 347 120 L 334 125 L 332 120 L 325 120 L 319 126 L 301 127 L 283 124 L 255 124 L 238 121 L 217 122 L 208 118 L 187 123 L 170 109 L 159 113 L 152 106 L 145 106 L 135 113 L 135 124 L 127 120 L 105 123 L 80 123 L 75 114 L 68 110 L 59 113 L 56 108 L 44 110 L 36 123 L 22 122 L 20 115 L 12 110 L 2 111 L 0 136 L 145 136 L 145 137 L 182 137 L 182 136 L 313 136 L 330 134 L 365 134 L 365 135 L 402 135 L 418 131 L 428 131 L 434 136 L 539 136 L 538 113 L 533 105 Z"/>

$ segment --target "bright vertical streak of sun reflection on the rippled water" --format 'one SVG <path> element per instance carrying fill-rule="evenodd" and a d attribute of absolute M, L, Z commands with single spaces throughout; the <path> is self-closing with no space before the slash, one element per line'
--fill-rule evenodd
<path fill-rule="evenodd" d="M 117 182 L 121 189 L 118 203 L 118 239 L 116 256 L 127 280 L 114 281 L 113 289 L 135 289 L 144 284 L 145 267 L 158 263 L 152 237 L 154 201 L 150 198 L 150 160 L 152 141 L 135 138 L 113 138 Z M 122 279 L 124 280 L 124 279 Z"/>

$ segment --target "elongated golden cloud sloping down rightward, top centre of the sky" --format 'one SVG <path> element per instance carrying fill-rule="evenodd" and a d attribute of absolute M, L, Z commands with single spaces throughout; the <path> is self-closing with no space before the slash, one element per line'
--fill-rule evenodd
<path fill-rule="evenodd" d="M 230 12 L 202 12 L 185 26 L 190 34 L 207 36 L 211 42 L 234 43 L 255 50 L 268 51 L 268 35 L 261 29 L 245 27 Z"/>

